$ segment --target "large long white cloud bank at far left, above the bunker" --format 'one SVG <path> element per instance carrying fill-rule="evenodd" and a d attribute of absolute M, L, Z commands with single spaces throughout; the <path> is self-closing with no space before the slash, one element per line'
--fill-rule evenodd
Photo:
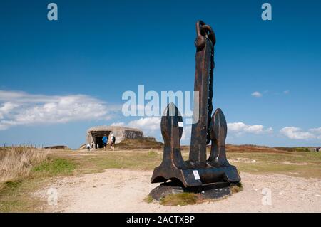
<path fill-rule="evenodd" d="M 14 125 L 108 120 L 117 110 L 88 95 L 32 95 L 0 90 L 0 130 Z"/>

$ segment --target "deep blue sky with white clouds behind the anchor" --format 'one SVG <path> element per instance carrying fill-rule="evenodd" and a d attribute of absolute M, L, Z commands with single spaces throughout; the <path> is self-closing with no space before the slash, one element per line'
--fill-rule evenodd
<path fill-rule="evenodd" d="M 0 144 L 76 148 L 88 127 L 115 123 L 161 140 L 157 117 L 123 117 L 122 94 L 193 90 L 202 19 L 228 142 L 321 145 L 320 1 L 54 1 L 58 21 L 49 2 L 1 1 Z"/>

